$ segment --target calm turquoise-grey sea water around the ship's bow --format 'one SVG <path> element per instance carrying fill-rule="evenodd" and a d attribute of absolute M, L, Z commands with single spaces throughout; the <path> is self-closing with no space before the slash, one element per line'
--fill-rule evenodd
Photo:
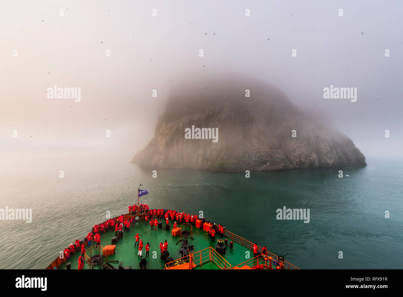
<path fill-rule="evenodd" d="M 207 220 L 301 269 L 401 268 L 403 167 L 367 162 L 363 168 L 252 172 L 250 178 L 179 169 L 157 170 L 152 178 L 151 170 L 131 163 L 27 164 L 0 175 L 0 208 L 30 208 L 33 216 L 32 223 L 0 221 L 0 268 L 45 268 L 107 211 L 127 213 L 139 183 L 149 191 L 140 202 L 203 211 Z M 310 209 L 310 222 L 277 220 L 276 209 L 283 206 Z"/>

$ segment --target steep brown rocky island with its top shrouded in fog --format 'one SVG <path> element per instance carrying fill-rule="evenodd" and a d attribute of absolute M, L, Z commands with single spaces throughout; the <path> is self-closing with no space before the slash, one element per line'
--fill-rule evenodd
<path fill-rule="evenodd" d="M 173 95 L 154 139 L 132 162 L 150 169 L 218 172 L 366 165 L 351 139 L 300 112 L 278 89 L 239 82 L 227 83 L 225 92 L 220 87 L 194 87 Z M 192 125 L 218 128 L 218 141 L 185 139 L 185 128 Z"/>

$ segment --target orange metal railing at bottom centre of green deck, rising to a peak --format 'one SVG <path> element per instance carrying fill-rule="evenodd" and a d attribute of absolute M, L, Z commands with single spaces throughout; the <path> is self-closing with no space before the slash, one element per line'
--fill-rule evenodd
<path fill-rule="evenodd" d="M 231 264 L 228 263 L 220 254 L 218 254 L 211 246 L 198 252 L 194 252 L 192 263 L 196 266 L 202 266 L 203 263 L 212 262 L 220 269 L 231 268 Z M 181 264 L 188 263 L 189 256 L 185 256 L 165 264 L 165 269 L 183 269 Z"/>

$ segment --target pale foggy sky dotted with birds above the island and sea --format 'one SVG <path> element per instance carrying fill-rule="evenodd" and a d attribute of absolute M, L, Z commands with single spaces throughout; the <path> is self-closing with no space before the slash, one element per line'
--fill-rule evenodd
<path fill-rule="evenodd" d="M 2 161 L 34 153 L 129 162 L 154 136 L 173 86 L 192 75 L 219 82 L 225 73 L 277 86 L 367 158 L 402 159 L 402 8 L 398 1 L 3 2 Z M 357 102 L 324 99 L 331 84 L 356 87 Z M 80 87 L 81 101 L 48 99 L 54 85 Z"/>

